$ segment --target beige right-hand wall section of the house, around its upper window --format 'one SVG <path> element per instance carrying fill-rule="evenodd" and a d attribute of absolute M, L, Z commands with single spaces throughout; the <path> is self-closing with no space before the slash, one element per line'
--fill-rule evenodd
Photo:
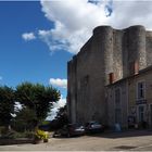
<path fill-rule="evenodd" d="M 144 71 L 144 69 L 143 69 Z M 139 101 L 137 98 L 137 85 L 140 81 L 144 81 L 144 98 Z M 145 72 L 141 72 L 128 80 L 128 114 L 132 114 L 132 109 L 135 109 L 135 116 L 137 123 L 139 123 L 139 106 L 144 106 L 143 117 L 149 125 L 152 126 L 152 67 Z"/>

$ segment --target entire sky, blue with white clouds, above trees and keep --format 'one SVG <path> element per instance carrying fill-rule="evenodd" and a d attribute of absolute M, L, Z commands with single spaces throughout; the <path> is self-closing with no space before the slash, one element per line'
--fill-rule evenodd
<path fill-rule="evenodd" d="M 52 85 L 66 102 L 67 61 L 94 27 L 152 29 L 151 0 L 0 1 L 0 85 Z"/>

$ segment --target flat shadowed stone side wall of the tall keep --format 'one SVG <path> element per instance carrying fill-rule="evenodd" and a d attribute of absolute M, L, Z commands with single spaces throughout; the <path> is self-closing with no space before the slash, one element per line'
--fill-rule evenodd
<path fill-rule="evenodd" d="M 77 55 L 77 122 L 105 122 L 104 64 L 99 37 L 92 36 Z"/>

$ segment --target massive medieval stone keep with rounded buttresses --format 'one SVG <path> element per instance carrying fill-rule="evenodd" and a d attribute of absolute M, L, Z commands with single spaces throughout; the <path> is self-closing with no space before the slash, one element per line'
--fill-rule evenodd
<path fill-rule="evenodd" d="M 141 25 L 99 26 L 67 63 L 67 109 L 72 123 L 109 125 L 106 86 L 152 65 L 152 33 Z"/>

